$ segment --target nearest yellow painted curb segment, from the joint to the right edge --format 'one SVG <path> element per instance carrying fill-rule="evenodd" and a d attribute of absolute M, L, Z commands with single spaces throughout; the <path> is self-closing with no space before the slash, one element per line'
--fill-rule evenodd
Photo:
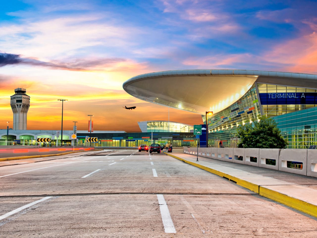
<path fill-rule="evenodd" d="M 272 199 L 276 202 L 281 202 L 288 207 L 295 208 L 296 210 L 317 217 L 317 206 L 311 203 L 304 202 L 297 198 L 263 187 L 260 187 L 259 195 Z"/>

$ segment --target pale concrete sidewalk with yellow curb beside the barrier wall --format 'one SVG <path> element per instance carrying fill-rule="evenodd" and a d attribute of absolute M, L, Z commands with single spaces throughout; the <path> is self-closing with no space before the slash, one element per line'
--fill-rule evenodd
<path fill-rule="evenodd" d="M 317 217 L 317 178 L 274 169 L 230 163 L 173 150 L 172 156 L 185 163 L 227 178 L 263 197 Z"/>

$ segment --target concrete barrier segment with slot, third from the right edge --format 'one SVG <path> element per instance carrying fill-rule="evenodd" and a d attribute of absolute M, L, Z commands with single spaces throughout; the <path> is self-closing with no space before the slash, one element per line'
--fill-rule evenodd
<path fill-rule="evenodd" d="M 260 149 L 259 167 L 278 170 L 280 151 L 281 149 Z"/>

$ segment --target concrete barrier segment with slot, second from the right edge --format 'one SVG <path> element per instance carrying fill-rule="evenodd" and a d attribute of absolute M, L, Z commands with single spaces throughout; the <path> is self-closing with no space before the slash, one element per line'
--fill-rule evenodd
<path fill-rule="evenodd" d="M 307 175 L 307 149 L 281 149 L 279 170 Z"/>

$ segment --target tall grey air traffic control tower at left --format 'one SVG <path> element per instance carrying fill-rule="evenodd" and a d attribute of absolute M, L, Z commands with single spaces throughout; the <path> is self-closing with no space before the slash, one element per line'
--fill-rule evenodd
<path fill-rule="evenodd" d="M 13 111 L 13 129 L 26 130 L 26 116 L 30 107 L 30 96 L 26 95 L 26 89 L 14 89 L 15 95 L 11 96 L 11 108 Z"/>

